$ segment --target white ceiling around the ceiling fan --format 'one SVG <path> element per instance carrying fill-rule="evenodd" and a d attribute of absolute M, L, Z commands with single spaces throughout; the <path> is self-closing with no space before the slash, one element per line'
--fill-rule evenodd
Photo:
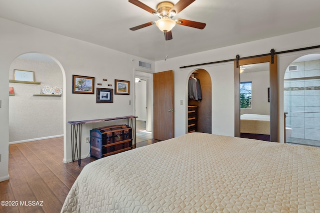
<path fill-rule="evenodd" d="M 320 0 L 195 0 L 175 18 L 205 28 L 176 25 L 166 52 L 155 25 L 129 30 L 158 18 L 127 0 L 0 0 L 0 17 L 152 61 L 319 27 L 319 9 Z"/>

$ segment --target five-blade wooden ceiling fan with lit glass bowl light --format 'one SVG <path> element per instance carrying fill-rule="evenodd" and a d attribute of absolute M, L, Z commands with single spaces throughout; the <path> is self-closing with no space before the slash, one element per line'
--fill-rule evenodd
<path fill-rule="evenodd" d="M 173 4 L 169 1 L 162 1 L 158 3 L 158 5 L 156 6 L 156 10 L 154 10 L 139 0 L 129 0 L 130 3 L 133 3 L 134 5 L 159 17 L 157 21 L 149 21 L 147 23 L 131 27 L 130 30 L 137 30 L 155 24 L 161 31 L 164 32 L 165 40 L 170 40 L 172 39 L 171 29 L 175 26 L 176 23 L 184 26 L 203 29 L 205 27 L 205 23 L 185 20 L 181 18 L 178 18 L 176 20 L 172 19 L 174 15 L 187 7 L 193 1 L 195 0 L 179 0 L 176 4 Z"/>

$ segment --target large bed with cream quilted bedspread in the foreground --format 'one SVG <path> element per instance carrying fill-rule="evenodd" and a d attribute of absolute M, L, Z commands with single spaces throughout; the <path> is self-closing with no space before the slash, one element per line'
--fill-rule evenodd
<path fill-rule="evenodd" d="M 61 210 L 319 211 L 319 148 L 207 133 L 188 133 L 86 165 Z"/>

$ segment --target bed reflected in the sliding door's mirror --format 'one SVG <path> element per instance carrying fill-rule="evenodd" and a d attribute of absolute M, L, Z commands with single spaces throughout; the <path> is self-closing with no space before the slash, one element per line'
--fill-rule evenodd
<path fill-rule="evenodd" d="M 240 137 L 270 141 L 270 116 L 260 114 L 240 115 Z"/>

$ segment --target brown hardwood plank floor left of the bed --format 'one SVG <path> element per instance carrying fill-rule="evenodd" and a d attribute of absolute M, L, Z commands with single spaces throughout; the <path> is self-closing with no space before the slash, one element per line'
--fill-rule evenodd
<path fill-rule="evenodd" d="M 137 148 L 156 142 L 140 142 Z M 77 162 L 64 164 L 62 159 L 63 137 L 9 145 L 10 179 L 0 182 L 0 201 L 15 206 L 0 206 L 0 212 L 59 213 L 83 167 L 95 160 L 82 159 L 79 167 Z"/>

